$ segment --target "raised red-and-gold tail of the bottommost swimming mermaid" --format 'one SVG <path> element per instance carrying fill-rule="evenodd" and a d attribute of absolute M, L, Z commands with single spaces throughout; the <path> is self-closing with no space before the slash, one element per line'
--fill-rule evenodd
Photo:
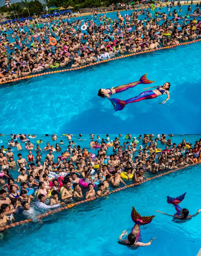
<path fill-rule="evenodd" d="M 135 222 L 135 226 L 132 228 L 131 233 L 136 236 L 137 241 L 141 241 L 141 236 L 140 236 L 140 225 L 145 225 L 150 223 L 155 215 L 152 216 L 141 216 L 135 209 L 135 207 L 132 207 L 132 212 L 131 212 L 131 218 L 132 221 Z"/>

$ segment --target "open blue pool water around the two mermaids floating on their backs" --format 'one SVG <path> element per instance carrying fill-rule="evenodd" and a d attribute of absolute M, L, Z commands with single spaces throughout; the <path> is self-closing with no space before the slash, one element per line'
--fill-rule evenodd
<path fill-rule="evenodd" d="M 182 9 L 185 14 L 187 6 Z M 116 17 L 114 13 L 107 15 Z M 200 46 L 201 42 L 198 42 L 81 70 L 3 84 L 0 89 L 3 120 L 0 130 L 4 133 L 16 129 L 27 133 L 62 133 L 67 129 L 88 132 L 90 125 L 98 132 L 105 132 L 107 126 L 107 132 L 119 133 L 127 132 L 128 126 L 141 132 L 143 125 L 144 132 L 150 131 L 151 127 L 155 133 L 164 128 L 167 133 L 198 133 L 200 111 L 196 95 L 201 92 Z M 100 88 L 138 81 L 146 72 L 148 79 L 156 81 L 153 85 L 171 83 L 170 101 L 166 104 L 159 104 L 166 98 L 160 96 L 128 104 L 124 110 L 115 112 L 108 99 L 97 96 Z M 113 97 L 125 100 L 149 86 L 138 85 Z M 197 125 L 192 126 L 195 120 Z M 157 125 L 153 126 L 155 123 Z"/>

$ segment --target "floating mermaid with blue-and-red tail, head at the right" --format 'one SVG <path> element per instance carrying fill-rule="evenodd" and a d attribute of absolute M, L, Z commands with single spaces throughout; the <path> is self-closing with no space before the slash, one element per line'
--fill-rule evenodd
<path fill-rule="evenodd" d="M 157 86 L 144 88 L 144 90 L 150 89 L 150 88 L 155 88 L 155 87 L 157 87 Z M 121 101 L 120 99 L 110 99 L 110 101 L 112 101 L 113 104 L 116 104 L 115 111 L 119 111 L 119 110 L 124 109 L 124 106 L 128 103 L 142 101 L 143 99 L 153 99 L 160 95 L 167 94 L 166 100 L 161 102 L 161 104 L 164 104 L 170 99 L 169 90 L 170 90 L 170 83 L 165 82 L 163 86 L 159 86 L 154 90 L 144 91 L 141 94 L 139 94 L 138 96 L 127 99 L 125 101 Z"/>

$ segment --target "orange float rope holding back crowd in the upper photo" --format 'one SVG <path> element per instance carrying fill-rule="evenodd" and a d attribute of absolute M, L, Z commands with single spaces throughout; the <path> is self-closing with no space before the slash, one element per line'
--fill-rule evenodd
<path fill-rule="evenodd" d="M 153 49 L 153 50 L 148 50 L 148 51 L 139 51 L 138 53 L 131 53 L 131 54 L 127 54 L 127 55 L 122 55 L 122 56 L 119 56 L 119 57 L 115 57 L 115 58 L 111 58 L 111 59 L 103 60 L 103 61 L 98 61 L 98 62 L 91 63 L 91 64 L 87 64 L 87 65 L 84 65 L 84 66 L 81 66 L 81 67 L 77 67 L 77 68 L 70 68 L 70 69 L 63 69 L 63 70 L 55 70 L 55 71 L 50 71 L 50 72 L 45 72 L 45 73 L 40 73 L 40 74 L 35 74 L 35 75 L 29 75 L 29 76 L 19 77 L 19 78 L 11 79 L 11 80 L 9 80 L 9 81 L 0 82 L 0 84 L 10 83 L 10 82 L 16 82 L 16 81 L 20 81 L 20 80 L 22 80 L 22 79 L 28 79 L 28 78 L 36 77 L 36 76 L 44 76 L 44 75 L 49 75 L 49 74 L 54 74 L 54 73 L 59 73 L 59 72 L 66 72 L 66 71 L 73 71 L 73 70 L 77 70 L 77 69 L 87 68 L 87 67 L 91 67 L 91 66 L 94 66 L 94 65 L 98 65 L 98 64 L 103 63 L 103 62 L 113 61 L 113 60 L 117 60 L 117 59 L 120 59 L 120 58 L 126 58 L 126 57 L 130 57 L 130 56 L 134 56 L 134 55 L 138 55 L 138 54 L 143 54 L 143 53 L 149 53 L 149 52 L 152 52 L 152 51 L 157 51 L 157 50 L 163 50 L 163 49 L 173 48 L 173 47 L 176 47 L 176 46 L 179 46 L 179 45 L 190 44 L 190 43 L 195 43 L 195 42 L 199 42 L 199 41 L 201 41 L 201 39 L 194 40 L 194 41 L 190 41 L 190 42 L 185 42 L 185 43 L 179 43 L 179 44 L 177 44 L 177 45 L 171 45 L 171 46 L 160 47 L 160 48 Z"/>

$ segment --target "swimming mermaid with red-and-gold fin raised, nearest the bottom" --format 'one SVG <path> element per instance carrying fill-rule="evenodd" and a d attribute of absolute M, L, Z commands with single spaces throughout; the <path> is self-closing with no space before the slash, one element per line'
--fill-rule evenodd
<path fill-rule="evenodd" d="M 152 221 L 155 216 L 141 216 L 134 207 L 132 207 L 131 218 L 132 221 L 135 222 L 135 226 L 132 228 L 131 233 L 128 235 L 127 239 L 122 239 L 122 236 L 126 236 L 128 233 L 124 230 L 119 237 L 118 243 L 127 245 L 129 247 L 140 247 L 140 246 L 149 246 L 153 240 L 156 238 L 151 238 L 148 243 L 141 242 L 141 235 L 140 235 L 140 225 L 148 224 Z"/>

